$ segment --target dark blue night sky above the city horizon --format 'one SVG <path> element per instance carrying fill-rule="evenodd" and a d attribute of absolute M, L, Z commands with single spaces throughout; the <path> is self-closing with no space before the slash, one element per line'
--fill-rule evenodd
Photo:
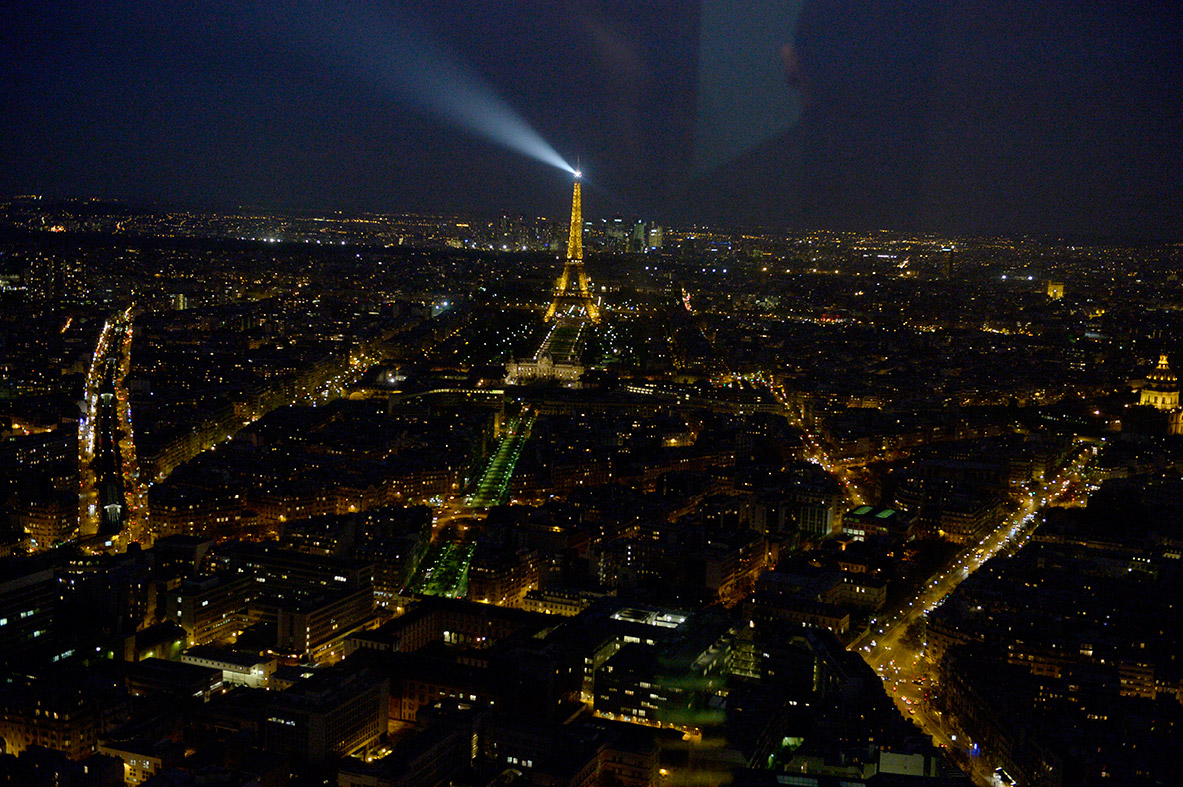
<path fill-rule="evenodd" d="M 1183 238 L 1181 6 L 9 0 L 0 194 Z"/>

